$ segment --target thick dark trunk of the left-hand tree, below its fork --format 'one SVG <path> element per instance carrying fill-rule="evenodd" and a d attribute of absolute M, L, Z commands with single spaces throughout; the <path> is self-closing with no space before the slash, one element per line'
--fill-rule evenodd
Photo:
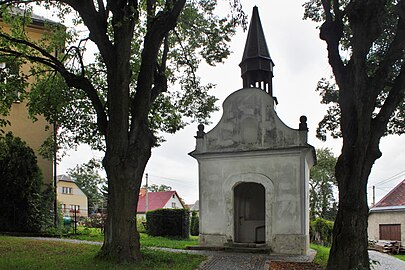
<path fill-rule="evenodd" d="M 108 207 L 99 257 L 118 262 L 142 260 L 136 209 L 151 147 L 150 136 L 139 136 L 126 151 L 119 152 L 116 150 L 120 147 L 107 146 L 112 149 L 107 150 L 103 160 L 108 178 Z"/>

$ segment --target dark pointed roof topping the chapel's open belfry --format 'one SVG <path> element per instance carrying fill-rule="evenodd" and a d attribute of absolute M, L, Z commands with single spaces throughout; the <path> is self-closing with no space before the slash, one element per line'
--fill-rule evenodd
<path fill-rule="evenodd" d="M 259 10 L 257 6 L 254 6 L 242 62 L 249 58 L 258 57 L 271 60 L 269 49 L 267 48 L 266 38 L 264 37 L 262 23 L 259 17 Z"/>

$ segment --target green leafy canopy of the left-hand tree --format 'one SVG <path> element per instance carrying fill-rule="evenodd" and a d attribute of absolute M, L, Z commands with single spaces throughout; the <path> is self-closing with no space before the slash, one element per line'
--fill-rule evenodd
<path fill-rule="evenodd" d="M 62 147 L 69 149 L 79 143 L 86 143 L 103 150 L 105 145 L 98 130 L 97 112 L 92 100 L 83 90 L 67 86 L 60 72 L 53 71 L 52 67 L 57 64 L 47 59 L 50 57 L 44 57 L 43 52 L 25 44 L 27 41 L 44 49 L 51 56 L 55 56 L 66 71 L 88 78 L 97 90 L 97 97 L 107 113 L 109 110 L 107 66 L 97 50 L 94 52 L 94 61 L 86 63 L 88 60 L 84 57 L 89 55 L 86 53 L 89 50 L 89 32 L 81 17 L 70 6 L 64 4 L 64 1 L 6 2 L 1 5 L 2 19 L 10 24 L 13 30 L 8 33 L 1 29 L 0 55 L 7 61 L 37 63 L 31 66 L 29 74 L 20 76 L 24 79 L 31 78 L 35 82 L 31 86 L 30 93 L 25 96 L 33 119 L 36 119 L 36 115 L 43 114 L 49 123 L 57 123 L 58 127 L 61 127 L 58 140 Z M 147 1 L 140 1 L 138 9 L 134 12 L 138 19 L 130 54 L 129 94 L 132 99 L 135 98 L 137 91 L 148 16 L 157 17 L 159 13 L 170 8 L 167 6 L 170 1 L 152 2 L 155 2 L 153 14 L 148 14 L 151 11 L 147 9 Z M 155 86 L 161 83 L 164 90 L 149 109 L 149 127 L 158 138 L 157 144 L 163 141 L 162 132 L 174 133 L 189 122 L 207 122 L 209 113 L 217 110 L 215 106 L 217 99 L 209 94 L 215 85 L 203 85 L 197 76 L 197 70 L 201 61 L 206 61 L 209 65 L 223 62 L 230 54 L 228 42 L 235 34 L 235 27 L 241 22 L 245 23 L 246 17 L 241 11 L 239 2 L 229 2 L 232 6 L 231 16 L 220 17 L 215 15 L 217 1 L 187 1 L 175 29 L 169 32 L 161 44 L 160 60 L 154 77 Z M 27 28 L 32 23 L 32 12 L 41 8 L 53 11 L 64 25 L 45 21 L 45 27 L 50 31 L 46 31 L 39 40 L 34 40 L 27 33 Z M 113 22 L 112 18 L 107 22 L 107 34 L 113 42 L 116 34 L 114 27 L 120 22 Z M 16 39 L 20 42 L 16 43 Z M 21 91 L 24 91 L 26 86 L 19 82 L 18 87 Z M 0 87 L 0 90 L 2 89 L 8 89 L 0 93 L 5 99 L 11 93 L 10 82 L 3 83 Z M 6 116 L 10 106 L 9 102 L 0 113 Z"/>

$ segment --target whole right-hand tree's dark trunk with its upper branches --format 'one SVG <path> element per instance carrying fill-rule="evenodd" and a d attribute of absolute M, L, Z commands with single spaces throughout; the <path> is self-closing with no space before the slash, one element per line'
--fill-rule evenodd
<path fill-rule="evenodd" d="M 390 116 L 403 100 L 405 65 L 393 80 L 392 88 L 377 115 L 378 95 L 387 85 L 395 61 L 403 59 L 404 22 L 398 20 L 394 39 L 384 60 L 372 72 L 367 60 L 373 43 L 383 33 L 388 14 L 387 1 L 349 1 L 341 11 L 340 1 L 322 1 L 326 20 L 320 37 L 327 43 L 329 63 L 339 86 L 342 153 L 335 168 L 339 187 L 339 209 L 333 229 L 328 270 L 370 269 L 368 257 L 367 182 L 374 162 L 381 157 L 379 143 Z M 333 11 L 332 11 L 333 7 Z M 405 10 L 404 2 L 397 8 Z M 351 29 L 350 60 L 343 61 L 339 44 L 343 37 L 343 15 Z"/>

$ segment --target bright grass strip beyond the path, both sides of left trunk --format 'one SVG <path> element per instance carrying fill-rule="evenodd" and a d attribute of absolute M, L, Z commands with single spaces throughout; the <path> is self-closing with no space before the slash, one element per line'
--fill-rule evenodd
<path fill-rule="evenodd" d="M 165 247 L 165 248 L 175 248 L 184 249 L 186 246 L 195 246 L 198 244 L 197 236 L 190 236 L 189 239 L 178 239 L 178 238 L 168 238 L 168 237 L 154 237 L 149 236 L 146 233 L 141 233 L 141 246 L 142 247 Z M 77 235 L 71 235 L 69 238 L 103 242 L 104 235 L 101 234 L 100 229 L 86 229 L 79 227 L 77 230 Z"/>

